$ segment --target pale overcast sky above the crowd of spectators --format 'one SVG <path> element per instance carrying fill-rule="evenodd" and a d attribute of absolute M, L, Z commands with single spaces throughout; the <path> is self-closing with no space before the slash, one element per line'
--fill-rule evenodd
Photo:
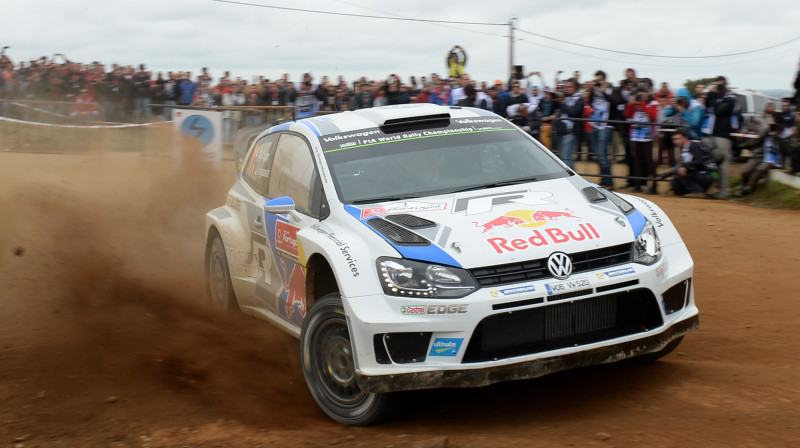
<path fill-rule="evenodd" d="M 205 66 L 215 81 L 226 70 L 248 80 L 284 72 L 293 80 L 304 72 L 317 81 L 391 73 L 407 80 L 445 73 L 456 44 L 468 53 L 473 79 L 507 79 L 512 18 L 514 63 L 543 72 L 548 84 L 557 70 L 580 70 L 586 80 L 598 69 L 616 83 L 633 67 L 673 88 L 724 74 L 737 87 L 792 90 L 800 58 L 797 0 L 4 0 L 2 11 L 0 45 L 10 46 L 15 62 L 64 53 L 84 63 L 144 63 L 153 72 L 197 74 Z"/>

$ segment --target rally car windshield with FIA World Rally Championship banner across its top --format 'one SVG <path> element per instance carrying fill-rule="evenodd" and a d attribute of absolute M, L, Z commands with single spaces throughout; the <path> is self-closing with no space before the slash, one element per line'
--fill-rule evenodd
<path fill-rule="evenodd" d="M 379 128 L 320 138 L 339 199 L 385 202 L 566 177 L 544 147 L 496 117 L 386 133 Z"/>

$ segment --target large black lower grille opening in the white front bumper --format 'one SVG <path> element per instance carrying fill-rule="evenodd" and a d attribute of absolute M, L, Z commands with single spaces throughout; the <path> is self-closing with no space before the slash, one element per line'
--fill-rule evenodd
<path fill-rule="evenodd" d="M 529 355 L 636 334 L 663 325 L 655 295 L 635 289 L 483 319 L 464 363 Z"/>

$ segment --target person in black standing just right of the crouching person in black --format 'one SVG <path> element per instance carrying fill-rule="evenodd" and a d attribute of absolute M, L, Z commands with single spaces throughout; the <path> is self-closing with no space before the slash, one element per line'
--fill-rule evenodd
<path fill-rule="evenodd" d="M 711 91 L 706 97 L 706 110 L 708 112 L 708 125 L 704 132 L 712 137 L 716 157 L 719 164 L 719 191 L 714 195 L 717 199 L 730 197 L 730 184 L 728 183 L 728 163 L 731 158 L 733 138 L 735 131 L 739 102 L 730 90 L 724 76 L 717 77 L 712 83 Z"/>

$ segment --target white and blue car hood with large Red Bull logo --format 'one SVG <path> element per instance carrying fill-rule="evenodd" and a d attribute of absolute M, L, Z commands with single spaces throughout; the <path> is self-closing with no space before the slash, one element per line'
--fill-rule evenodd
<path fill-rule="evenodd" d="M 630 243 L 646 223 L 571 179 L 345 209 L 405 258 L 465 268 Z"/>

